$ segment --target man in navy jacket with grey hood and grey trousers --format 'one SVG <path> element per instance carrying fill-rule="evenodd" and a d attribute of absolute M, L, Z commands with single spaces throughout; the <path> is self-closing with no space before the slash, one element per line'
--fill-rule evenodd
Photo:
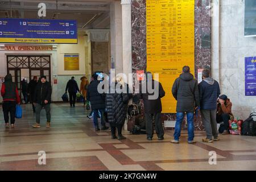
<path fill-rule="evenodd" d="M 203 70 L 203 81 L 199 84 L 199 95 L 201 116 L 207 133 L 207 138 L 203 138 L 203 142 L 218 141 L 220 139 L 218 139 L 216 122 L 216 101 L 220 96 L 220 86 L 216 80 L 210 77 L 209 69 Z"/>

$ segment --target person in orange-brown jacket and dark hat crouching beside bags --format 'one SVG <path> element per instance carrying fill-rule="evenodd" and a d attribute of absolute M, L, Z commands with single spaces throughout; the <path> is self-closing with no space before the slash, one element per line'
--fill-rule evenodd
<path fill-rule="evenodd" d="M 232 102 L 226 95 L 218 97 L 216 121 L 220 123 L 219 133 L 229 134 L 229 120 L 234 119 L 232 114 Z"/>

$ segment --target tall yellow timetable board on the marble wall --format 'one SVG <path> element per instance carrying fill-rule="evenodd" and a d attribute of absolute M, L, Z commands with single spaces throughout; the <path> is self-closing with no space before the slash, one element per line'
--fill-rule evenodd
<path fill-rule="evenodd" d="M 147 0 L 147 71 L 159 74 L 163 113 L 176 113 L 171 89 L 184 65 L 195 72 L 195 0 Z"/>

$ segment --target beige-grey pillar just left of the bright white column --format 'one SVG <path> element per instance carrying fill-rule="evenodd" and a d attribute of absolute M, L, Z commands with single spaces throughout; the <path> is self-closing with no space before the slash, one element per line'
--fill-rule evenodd
<path fill-rule="evenodd" d="M 115 74 L 122 73 L 122 5 L 120 2 L 112 2 L 110 4 L 110 38 L 111 57 L 115 63 Z"/>

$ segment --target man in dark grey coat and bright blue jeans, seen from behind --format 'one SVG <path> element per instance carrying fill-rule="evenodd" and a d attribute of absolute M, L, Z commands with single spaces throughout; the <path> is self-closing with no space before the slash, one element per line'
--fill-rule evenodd
<path fill-rule="evenodd" d="M 197 80 L 194 79 L 190 73 L 190 68 L 184 66 L 182 74 L 179 78 L 176 78 L 174 85 L 172 86 L 172 95 L 177 100 L 176 112 L 176 124 L 174 140 L 172 143 L 179 143 L 181 123 L 183 122 L 184 113 L 187 114 L 188 123 L 188 143 L 195 143 L 194 139 L 194 110 L 195 107 L 200 106 L 199 90 Z"/>

